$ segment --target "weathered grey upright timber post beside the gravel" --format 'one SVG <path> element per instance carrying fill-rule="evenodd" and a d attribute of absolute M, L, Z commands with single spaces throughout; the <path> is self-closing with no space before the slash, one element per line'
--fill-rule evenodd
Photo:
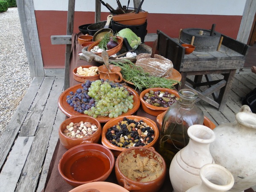
<path fill-rule="evenodd" d="M 41 55 L 33 0 L 19 0 L 17 1 L 17 8 L 29 63 L 30 76 L 32 79 L 34 77 L 44 77 L 44 64 Z"/>

